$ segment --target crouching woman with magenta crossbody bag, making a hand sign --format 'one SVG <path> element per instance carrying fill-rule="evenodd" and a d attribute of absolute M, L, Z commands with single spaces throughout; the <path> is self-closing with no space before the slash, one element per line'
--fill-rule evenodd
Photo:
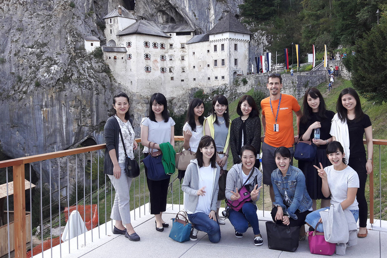
<path fill-rule="evenodd" d="M 232 166 L 227 174 L 226 198 L 229 201 L 241 199 L 238 189 L 245 187 L 250 193 L 250 200 L 245 202 L 242 205 L 242 208 L 238 206 L 240 209 L 235 209 L 231 205 L 231 208 L 228 209 L 228 219 L 234 226 L 236 237 L 241 238 L 243 233 L 247 231 L 248 224 L 250 224 L 254 233 L 254 244 L 262 245 L 264 241 L 262 240 L 260 232 L 258 216 L 256 215 L 257 207 L 255 204 L 260 198 L 262 173 L 254 167 L 256 150 L 253 146 L 248 144 L 243 146 L 240 155 L 242 163 Z M 233 190 L 235 190 L 235 192 Z"/>

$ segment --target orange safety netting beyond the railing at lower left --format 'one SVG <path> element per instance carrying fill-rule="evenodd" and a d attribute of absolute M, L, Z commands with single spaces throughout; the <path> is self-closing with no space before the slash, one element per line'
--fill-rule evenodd
<path fill-rule="evenodd" d="M 73 211 L 77 209 L 77 206 L 70 206 L 64 208 L 64 220 L 67 222 L 69 219 L 69 214 L 71 214 Z M 86 210 L 86 216 L 85 216 L 85 210 Z M 90 230 L 93 224 L 93 228 L 98 226 L 98 207 L 96 204 L 93 205 L 86 205 L 85 207 L 83 205 L 78 205 L 78 212 L 81 215 L 83 221 L 85 222 L 87 230 Z M 91 214 L 93 214 L 93 218 L 91 217 Z M 52 239 L 52 247 L 58 245 L 59 243 L 63 243 L 63 241 L 60 239 L 61 236 L 53 238 Z M 43 251 L 51 248 L 51 239 L 47 239 L 43 242 Z M 33 249 L 33 254 L 38 254 L 42 252 L 42 245 L 39 244 L 35 246 Z M 31 251 L 27 252 L 27 258 L 31 258 Z"/>

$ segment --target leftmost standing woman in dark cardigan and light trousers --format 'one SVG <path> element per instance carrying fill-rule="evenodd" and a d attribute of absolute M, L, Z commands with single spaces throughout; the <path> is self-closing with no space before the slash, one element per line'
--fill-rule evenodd
<path fill-rule="evenodd" d="M 114 115 L 107 119 L 103 130 L 106 143 L 103 172 L 110 178 L 115 190 L 114 204 L 110 215 L 110 218 L 115 220 L 113 234 L 122 234 L 131 241 L 139 241 L 140 236 L 131 224 L 130 190 L 133 178 L 126 176 L 124 172 L 125 152 L 123 145 L 125 145 L 127 156 L 131 159 L 135 158 L 133 151 L 138 148 L 129 107 L 129 98 L 125 93 L 119 93 L 113 97 Z"/>

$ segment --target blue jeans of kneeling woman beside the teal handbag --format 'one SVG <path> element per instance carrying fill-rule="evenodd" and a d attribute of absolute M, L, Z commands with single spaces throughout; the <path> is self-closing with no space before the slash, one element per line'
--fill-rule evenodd
<path fill-rule="evenodd" d="M 188 214 L 188 219 L 197 230 L 206 232 L 212 243 L 220 241 L 219 224 L 217 221 L 210 219 L 207 214 L 203 212 Z"/>

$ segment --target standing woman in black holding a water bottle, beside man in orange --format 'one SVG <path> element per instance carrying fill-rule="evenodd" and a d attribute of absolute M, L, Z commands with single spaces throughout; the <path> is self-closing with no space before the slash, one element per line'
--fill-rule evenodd
<path fill-rule="evenodd" d="M 300 120 L 300 141 L 311 140 L 316 146 L 316 156 L 314 161 L 298 161 L 298 168 L 305 175 L 306 189 L 310 198 L 313 200 L 313 211 L 316 210 L 316 200 L 321 199 L 320 208 L 330 206 L 330 198 L 324 197 L 321 192 L 322 181 L 318 176 L 316 169 L 313 165 L 320 167 L 319 163 L 323 167 L 329 166 L 331 163 L 328 160 L 326 149 L 328 143 L 332 142 L 331 120 L 335 113 L 327 110 L 324 98 L 316 88 L 309 88 L 304 95 L 304 101 L 302 104 L 303 116 Z M 314 130 L 320 128 L 320 139 L 314 139 Z"/>

